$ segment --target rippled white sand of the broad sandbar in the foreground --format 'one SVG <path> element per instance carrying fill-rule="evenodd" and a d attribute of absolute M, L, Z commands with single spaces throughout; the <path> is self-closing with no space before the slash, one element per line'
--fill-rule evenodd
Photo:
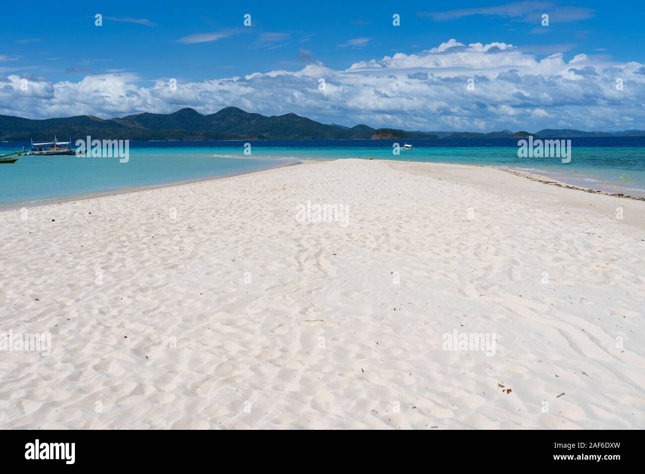
<path fill-rule="evenodd" d="M 0 428 L 645 428 L 645 202 L 342 160 L 21 215 Z"/>

